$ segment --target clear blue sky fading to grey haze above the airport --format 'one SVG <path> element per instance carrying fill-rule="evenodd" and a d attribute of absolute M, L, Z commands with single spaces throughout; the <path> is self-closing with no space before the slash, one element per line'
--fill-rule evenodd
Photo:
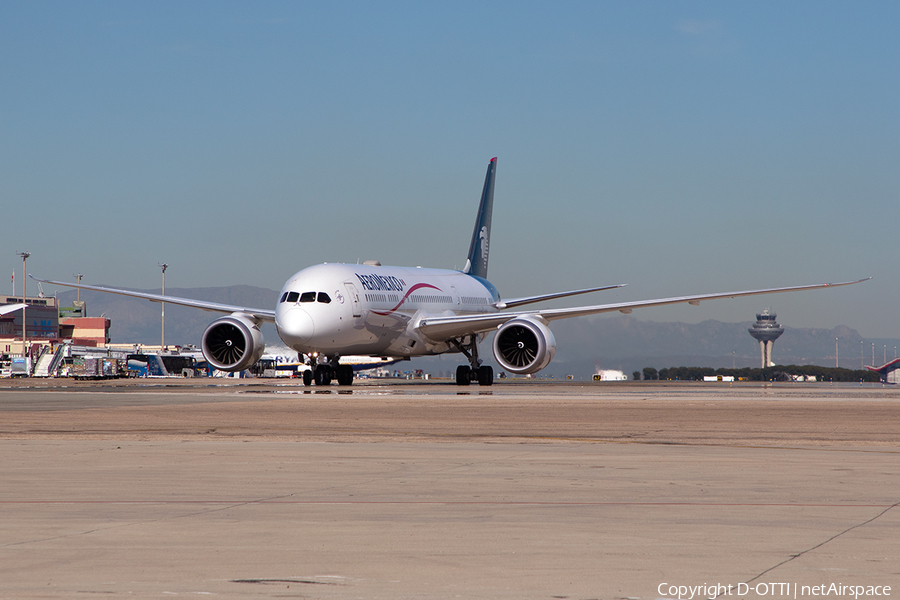
<path fill-rule="evenodd" d="M 898 25 L 890 2 L 0 2 L 0 265 L 271 289 L 461 267 L 498 156 L 504 296 L 874 276 L 635 316 L 900 337 Z"/>

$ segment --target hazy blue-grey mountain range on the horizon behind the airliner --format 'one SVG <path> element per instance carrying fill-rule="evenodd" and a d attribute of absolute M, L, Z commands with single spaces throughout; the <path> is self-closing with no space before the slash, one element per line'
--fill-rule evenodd
<path fill-rule="evenodd" d="M 155 290 L 138 290 L 160 293 Z M 172 296 L 195 298 L 249 306 L 274 308 L 278 292 L 249 285 L 208 288 L 167 288 Z M 63 306 L 70 304 L 76 292 L 59 295 Z M 115 343 L 159 344 L 160 305 L 146 300 L 115 294 L 81 292 L 87 302 L 88 316 L 106 315 L 112 321 L 110 337 Z M 206 327 L 217 317 L 216 313 L 166 305 L 166 343 L 197 344 Z M 872 363 L 871 344 L 876 343 L 876 363 L 881 364 L 883 346 L 887 346 L 888 359 L 894 357 L 894 346 L 900 340 L 864 339 L 856 330 L 840 325 L 832 329 L 804 329 L 790 327 L 790 316 L 779 318 L 784 334 L 775 342 L 773 357 L 778 364 L 818 364 L 834 366 L 834 340 L 838 338 L 840 366 L 860 368 L 860 350 L 865 354 L 865 364 Z M 621 369 L 630 375 L 644 367 L 656 369 L 680 366 L 696 367 L 758 367 L 759 345 L 747 329 L 753 321 L 743 323 L 659 323 L 643 321 L 633 316 L 598 316 L 555 321 L 552 325 L 557 340 L 556 358 L 544 374 L 562 378 L 573 375 L 588 379 L 598 368 Z M 263 334 L 269 345 L 281 345 L 272 325 L 263 326 Z M 862 346 L 860 344 L 862 342 Z M 498 369 L 491 356 L 491 338 L 481 345 L 481 355 Z M 426 369 L 452 374 L 457 364 L 465 362 L 459 355 L 439 358 L 414 359 L 401 363 L 402 370 Z M 402 365 L 406 365 L 405 367 Z"/>

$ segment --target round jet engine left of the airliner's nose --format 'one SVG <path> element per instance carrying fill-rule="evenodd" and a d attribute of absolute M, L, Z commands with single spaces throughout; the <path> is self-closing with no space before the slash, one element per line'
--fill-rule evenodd
<path fill-rule="evenodd" d="M 220 371 L 243 371 L 266 349 L 259 325 L 246 315 L 233 314 L 210 323 L 203 332 L 203 356 Z"/>

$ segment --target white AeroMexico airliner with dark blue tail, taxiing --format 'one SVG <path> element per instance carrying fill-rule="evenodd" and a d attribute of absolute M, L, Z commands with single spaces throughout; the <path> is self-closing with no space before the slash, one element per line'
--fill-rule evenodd
<path fill-rule="evenodd" d="M 468 385 L 493 383 L 493 369 L 478 357 L 478 342 L 494 332 L 494 357 L 510 373 L 540 371 L 553 359 L 556 340 L 549 324 L 557 319 L 604 312 L 630 313 L 635 308 L 701 300 L 736 298 L 776 292 L 837 287 L 866 281 L 823 283 L 794 287 L 721 292 L 658 300 L 621 302 L 576 308 L 510 310 L 528 304 L 611 288 L 610 285 L 555 294 L 502 300 L 487 280 L 491 213 L 497 159 L 491 159 L 475 221 L 475 231 L 462 271 L 387 267 L 378 262 L 323 264 L 292 275 L 281 290 L 274 310 L 231 306 L 188 298 L 38 279 L 44 283 L 80 287 L 230 313 L 213 321 L 203 333 L 201 348 L 209 363 L 223 371 L 241 371 L 254 364 L 265 348 L 259 330 L 274 322 L 284 343 L 306 357 L 311 369 L 304 383 L 317 385 L 353 381 L 353 368 L 342 364 L 350 355 L 408 358 L 460 352 L 456 381 Z"/>

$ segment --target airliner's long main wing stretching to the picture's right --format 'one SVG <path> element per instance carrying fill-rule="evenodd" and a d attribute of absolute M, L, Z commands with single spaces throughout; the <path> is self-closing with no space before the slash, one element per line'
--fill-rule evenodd
<path fill-rule="evenodd" d="M 650 306 L 664 306 L 666 304 L 700 304 L 704 300 L 716 300 L 718 298 L 738 298 L 741 296 L 760 296 L 763 294 L 777 294 L 781 292 L 798 292 L 801 290 L 815 290 L 828 287 L 840 287 L 868 281 L 871 277 L 858 281 L 845 281 L 842 283 L 817 283 L 813 285 L 800 285 L 782 288 L 768 288 L 762 290 L 745 290 L 741 292 L 719 292 L 715 294 L 700 294 L 696 296 L 678 296 L 673 298 L 660 298 L 657 300 L 638 300 L 635 302 L 620 302 L 617 304 L 599 304 L 596 306 L 576 306 L 574 308 L 550 308 L 543 310 L 485 313 L 480 315 L 460 315 L 454 317 L 425 317 L 416 329 L 428 338 L 436 341 L 447 341 L 465 335 L 492 331 L 517 317 L 537 316 L 545 321 L 557 319 L 569 319 L 571 317 L 583 317 L 605 312 L 620 311 L 631 313 L 635 308 Z"/>

